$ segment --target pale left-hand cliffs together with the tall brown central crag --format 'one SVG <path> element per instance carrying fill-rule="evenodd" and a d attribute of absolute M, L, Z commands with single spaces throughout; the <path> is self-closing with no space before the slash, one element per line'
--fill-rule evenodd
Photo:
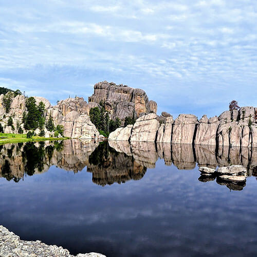
<path fill-rule="evenodd" d="M 27 112 L 26 97 L 24 95 L 14 96 L 10 92 L 11 104 L 7 112 L 4 105 L 5 95 L 0 96 L 0 123 L 5 133 L 18 133 L 18 127 L 21 126 L 24 133 L 24 124 L 22 122 L 23 114 Z M 141 114 L 157 112 L 157 104 L 149 101 L 145 91 L 138 88 L 128 87 L 126 85 L 116 85 L 107 81 L 99 82 L 94 87 L 94 94 L 88 97 L 88 103 L 82 97 L 67 98 L 58 101 L 57 105 L 51 106 L 50 102 L 43 97 L 34 97 L 36 104 L 43 102 L 45 104 L 45 120 L 50 117 L 55 126 L 64 126 L 64 136 L 71 138 L 98 138 L 100 135 L 93 123 L 89 119 L 89 111 L 93 107 L 104 105 L 109 117 L 119 118 L 124 123 L 126 117 L 138 118 Z M 8 126 L 8 119 L 12 117 L 13 126 Z M 39 133 L 39 130 L 36 131 Z M 53 132 L 45 129 L 46 137 L 53 136 Z"/>

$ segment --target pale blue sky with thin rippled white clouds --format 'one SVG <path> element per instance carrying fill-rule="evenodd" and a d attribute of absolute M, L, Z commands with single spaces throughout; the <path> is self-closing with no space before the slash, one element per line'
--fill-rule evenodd
<path fill-rule="evenodd" d="M 158 114 L 257 106 L 257 1 L 0 0 L 0 86 L 54 105 L 107 80 Z"/>

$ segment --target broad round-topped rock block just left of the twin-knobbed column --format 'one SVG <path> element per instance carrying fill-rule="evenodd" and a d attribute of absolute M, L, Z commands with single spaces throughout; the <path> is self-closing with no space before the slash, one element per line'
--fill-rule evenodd
<path fill-rule="evenodd" d="M 193 143 L 198 124 L 197 117 L 192 114 L 180 114 L 175 119 L 172 131 L 172 143 Z"/>

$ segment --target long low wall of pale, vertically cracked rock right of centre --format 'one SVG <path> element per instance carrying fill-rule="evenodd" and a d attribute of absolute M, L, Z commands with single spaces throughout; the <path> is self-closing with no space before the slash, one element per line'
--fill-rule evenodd
<path fill-rule="evenodd" d="M 180 114 L 175 120 L 168 113 L 161 116 L 140 116 L 133 127 L 119 128 L 109 140 L 130 140 L 157 143 L 187 143 L 255 148 L 257 146 L 257 108 L 241 107 L 219 117 L 200 120 L 191 114 Z M 120 135 L 125 136 L 120 136 Z"/>

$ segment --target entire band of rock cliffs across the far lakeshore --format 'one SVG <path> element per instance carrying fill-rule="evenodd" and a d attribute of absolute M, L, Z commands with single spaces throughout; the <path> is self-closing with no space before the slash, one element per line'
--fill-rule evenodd
<path fill-rule="evenodd" d="M 17 133 L 19 125 L 24 129 L 22 117 L 26 112 L 26 97 L 14 96 L 12 92 L 8 94 L 12 95 L 9 112 L 6 112 L 3 104 L 4 95 L 0 96 L 0 123 L 5 133 Z M 45 104 L 46 121 L 51 116 L 54 125 L 64 125 L 64 135 L 72 138 L 99 137 L 88 115 L 91 108 L 101 104 L 109 112 L 109 117 L 118 117 L 121 124 L 124 124 L 126 117 L 137 118 L 133 127 L 118 128 L 109 135 L 109 140 L 214 145 L 219 151 L 226 146 L 240 147 L 241 151 L 245 147 L 257 147 L 257 107 L 245 106 L 209 119 L 204 115 L 199 121 L 192 114 L 180 114 L 173 120 L 167 112 L 157 116 L 156 102 L 149 101 L 142 89 L 107 81 L 95 84 L 94 94 L 88 97 L 88 103 L 83 98 L 75 97 L 51 106 L 45 98 L 34 98 L 37 104 L 41 101 Z M 7 124 L 10 116 L 13 127 Z M 45 134 L 53 136 L 53 132 L 47 130 Z"/>

